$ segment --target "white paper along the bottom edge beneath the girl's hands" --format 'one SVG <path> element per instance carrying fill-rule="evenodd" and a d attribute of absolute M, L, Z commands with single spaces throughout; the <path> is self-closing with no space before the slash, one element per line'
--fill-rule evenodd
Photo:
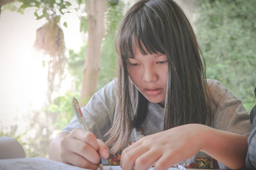
<path fill-rule="evenodd" d="M 35 170 L 55 170 L 55 169 L 68 169 L 68 170 L 84 170 L 84 168 L 70 166 L 55 160 L 33 157 L 33 158 L 19 158 L 19 159 L 0 159 L 0 169 L 35 169 Z M 104 166 L 104 170 L 120 170 L 120 166 Z M 150 170 L 154 168 L 150 168 Z M 178 170 L 178 167 L 170 167 L 168 170 Z M 188 169 L 188 168 L 186 168 Z M 195 169 L 193 169 L 195 170 Z M 202 169 L 200 169 L 202 170 Z"/>

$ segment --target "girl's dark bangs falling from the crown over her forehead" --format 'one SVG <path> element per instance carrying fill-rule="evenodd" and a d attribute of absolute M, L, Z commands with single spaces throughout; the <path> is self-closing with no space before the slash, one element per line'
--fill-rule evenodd
<path fill-rule="evenodd" d="M 156 25 L 159 26 L 156 28 Z M 136 46 L 143 55 L 165 53 L 163 36 L 159 34 L 163 34 L 161 17 L 154 13 L 154 9 L 143 4 L 140 9 L 124 17 L 116 36 L 116 51 L 123 61 L 134 58 Z"/>

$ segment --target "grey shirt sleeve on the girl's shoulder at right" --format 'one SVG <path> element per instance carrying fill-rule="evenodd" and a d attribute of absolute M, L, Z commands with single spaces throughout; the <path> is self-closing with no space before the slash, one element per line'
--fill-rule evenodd
<path fill-rule="evenodd" d="M 217 80 L 207 81 L 219 104 L 214 114 L 214 128 L 248 136 L 252 130 L 250 116 L 240 99 Z"/>

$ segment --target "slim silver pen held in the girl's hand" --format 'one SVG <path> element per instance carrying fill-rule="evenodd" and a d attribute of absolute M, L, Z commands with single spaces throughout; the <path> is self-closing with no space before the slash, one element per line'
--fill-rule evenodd
<path fill-rule="evenodd" d="M 78 104 L 78 102 L 77 102 L 76 97 L 72 97 L 72 106 L 73 106 L 73 109 L 74 109 L 74 112 L 75 112 L 75 114 L 76 114 L 76 118 L 77 118 L 78 122 L 79 122 L 81 125 L 83 125 L 83 129 L 84 129 L 85 131 L 89 131 L 89 130 L 88 130 L 88 127 L 87 127 L 87 125 L 86 125 L 85 119 L 84 119 L 84 117 L 83 117 L 83 113 L 82 113 L 82 111 L 81 111 L 81 108 L 80 108 L 80 106 L 79 106 L 79 104 Z M 100 170 L 103 170 L 103 166 L 102 166 L 101 159 L 100 159 L 100 162 L 99 162 L 98 166 L 99 166 Z"/>

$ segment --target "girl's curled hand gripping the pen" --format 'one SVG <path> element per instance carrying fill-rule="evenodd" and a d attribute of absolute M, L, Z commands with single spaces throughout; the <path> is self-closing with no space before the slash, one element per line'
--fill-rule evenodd
<path fill-rule="evenodd" d="M 108 159 L 108 146 L 92 132 L 73 129 L 60 142 L 61 162 L 87 169 L 97 169 L 100 156 Z"/>

